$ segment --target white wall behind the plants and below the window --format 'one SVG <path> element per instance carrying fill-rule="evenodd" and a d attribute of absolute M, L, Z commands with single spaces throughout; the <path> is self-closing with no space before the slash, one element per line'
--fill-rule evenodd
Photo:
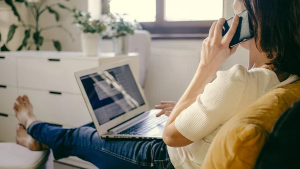
<path fill-rule="evenodd" d="M 70 7 L 77 6 L 78 9 L 86 10 L 86 0 L 71 0 L 65 2 Z M 224 0 L 224 17 L 229 18 L 233 15 L 231 0 Z M 81 51 L 80 33 L 76 30 L 70 13 L 57 9 L 61 15 L 62 24 L 74 36 L 71 39 L 60 29 L 53 29 L 43 32 L 42 35 L 47 39 L 60 40 L 62 50 Z M 45 12 L 41 18 L 41 25 L 48 26 L 57 24 L 54 16 Z M 145 93 L 151 106 L 158 104 L 160 100 L 178 100 L 187 85 L 189 84 L 199 63 L 202 40 L 152 40 L 151 56 L 148 61 L 149 69 L 147 72 Z M 42 50 L 54 50 L 51 42 L 45 42 Z M 102 51 L 112 51 L 112 43 L 103 40 Z M 248 52 L 239 48 L 221 67 L 227 70 L 234 64 L 240 63 L 247 66 Z"/>

